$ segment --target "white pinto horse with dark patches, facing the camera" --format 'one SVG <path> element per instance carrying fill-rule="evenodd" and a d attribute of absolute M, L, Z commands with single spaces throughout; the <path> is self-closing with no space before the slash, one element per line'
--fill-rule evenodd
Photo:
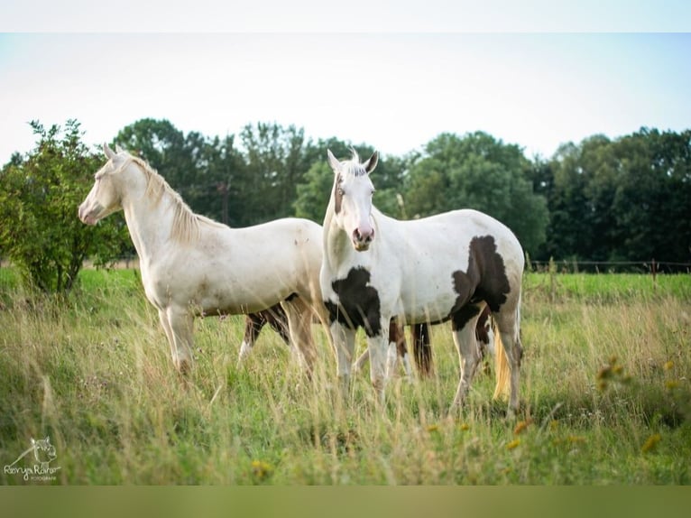
<path fill-rule="evenodd" d="M 328 151 L 334 188 L 324 218 L 320 282 L 331 319 L 337 375 L 349 383 L 355 331 L 362 327 L 370 353 L 370 379 L 383 402 L 389 322 L 451 320 L 461 364 L 454 397 L 460 406 L 480 363 L 475 322 L 488 305 L 502 350 L 495 355 L 510 371 L 509 414 L 519 405 L 521 245 L 502 223 L 475 210 L 398 221 L 373 207 L 370 173 L 378 155 L 363 163 L 353 151 L 339 162 Z M 497 372 L 495 395 L 505 390 Z"/>

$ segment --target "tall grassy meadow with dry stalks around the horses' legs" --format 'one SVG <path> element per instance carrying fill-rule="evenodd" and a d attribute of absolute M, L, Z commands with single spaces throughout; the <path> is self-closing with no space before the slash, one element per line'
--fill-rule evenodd
<path fill-rule="evenodd" d="M 383 412 L 366 373 L 349 402 L 336 397 L 317 326 L 311 382 L 268 330 L 236 365 L 242 326 L 198 319 L 184 386 L 137 272 L 85 270 L 53 300 L 0 268 L 0 483 L 691 483 L 688 274 L 527 274 L 515 421 L 483 374 L 447 415 L 458 381 L 447 325 L 433 329 L 436 378 L 392 381 Z M 8 468 L 47 436 L 45 473 L 28 472 L 30 456 Z"/>

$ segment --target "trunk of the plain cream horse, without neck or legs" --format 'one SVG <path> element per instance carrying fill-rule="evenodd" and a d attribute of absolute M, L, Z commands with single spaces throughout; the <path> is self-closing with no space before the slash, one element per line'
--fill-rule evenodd
<path fill-rule="evenodd" d="M 318 301 L 321 227 L 284 218 L 253 227 L 209 225 L 186 247 L 146 272 L 157 307 L 192 306 L 205 313 L 248 313 L 299 295 Z"/>

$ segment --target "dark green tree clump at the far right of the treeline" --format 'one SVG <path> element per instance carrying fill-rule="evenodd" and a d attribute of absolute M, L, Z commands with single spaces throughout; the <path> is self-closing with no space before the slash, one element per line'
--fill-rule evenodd
<path fill-rule="evenodd" d="M 689 261 L 691 131 L 594 135 L 541 172 L 551 218 L 540 258 Z"/>

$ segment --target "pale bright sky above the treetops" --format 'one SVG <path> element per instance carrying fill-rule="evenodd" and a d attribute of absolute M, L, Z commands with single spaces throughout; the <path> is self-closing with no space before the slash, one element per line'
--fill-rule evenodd
<path fill-rule="evenodd" d="M 0 7 L 0 164 L 32 150 L 32 120 L 77 119 L 88 144 L 145 117 L 209 137 L 275 122 L 384 155 L 484 131 L 546 158 L 593 134 L 691 128 L 688 2 L 70 3 Z"/>

